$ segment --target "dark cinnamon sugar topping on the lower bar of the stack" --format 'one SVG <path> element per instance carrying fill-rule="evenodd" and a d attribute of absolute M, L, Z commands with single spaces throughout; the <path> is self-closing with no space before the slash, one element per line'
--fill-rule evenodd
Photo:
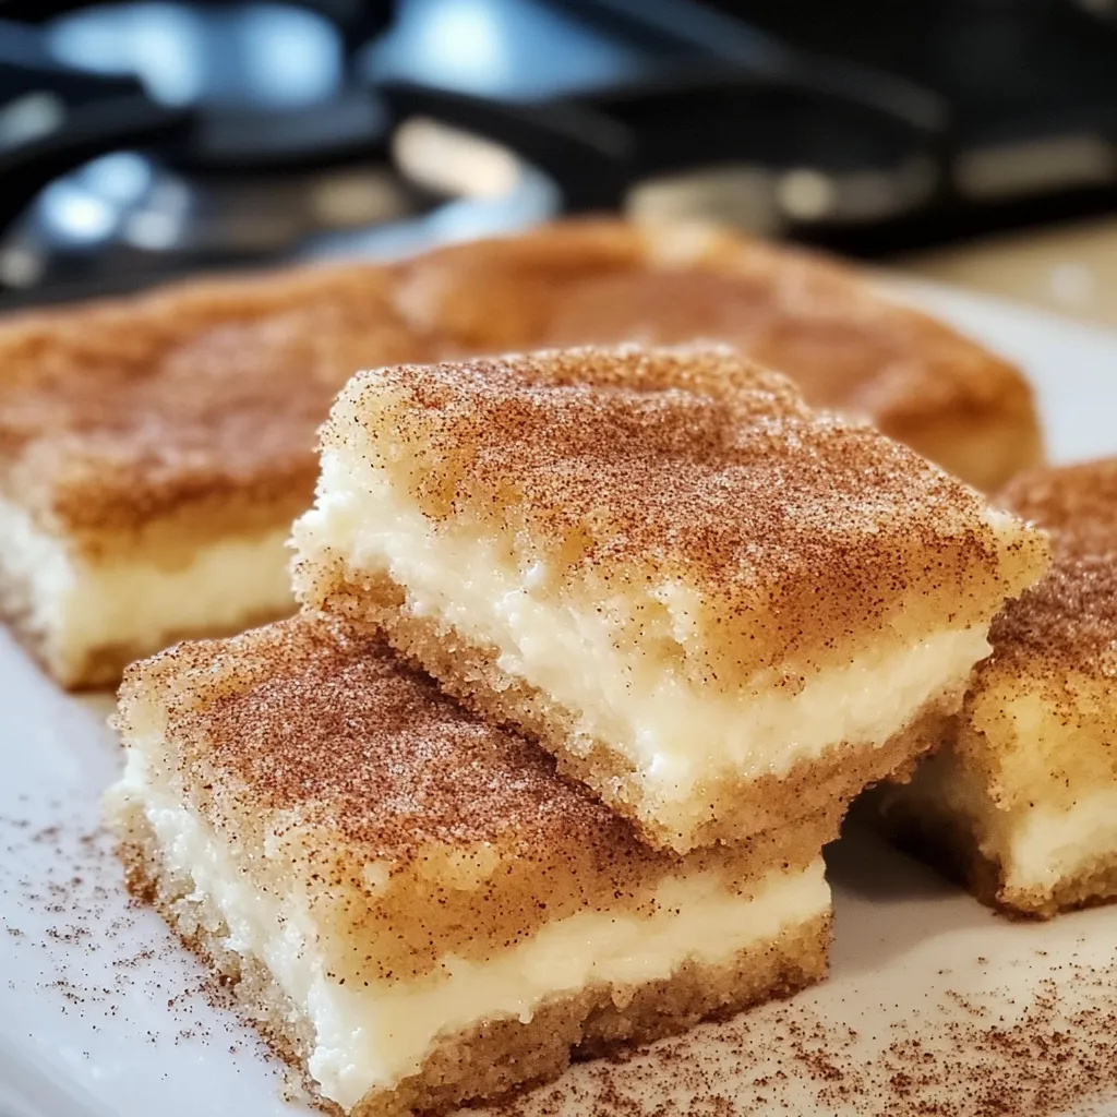
<path fill-rule="evenodd" d="M 569 846 L 602 862 L 649 859 L 542 750 L 481 724 L 343 623 L 304 614 L 160 658 L 185 685 L 170 732 L 188 767 L 218 774 L 246 811 L 293 812 L 395 865 L 476 843 L 519 857 Z M 125 717 L 142 678 L 134 669 L 125 685 Z"/>

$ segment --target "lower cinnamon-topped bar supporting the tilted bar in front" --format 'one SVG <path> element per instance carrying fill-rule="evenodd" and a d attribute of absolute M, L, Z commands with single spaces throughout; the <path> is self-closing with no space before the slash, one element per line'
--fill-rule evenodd
<path fill-rule="evenodd" d="M 134 665 L 118 727 L 132 889 L 334 1109 L 493 1097 L 823 975 L 836 811 L 657 853 L 340 620 Z"/>

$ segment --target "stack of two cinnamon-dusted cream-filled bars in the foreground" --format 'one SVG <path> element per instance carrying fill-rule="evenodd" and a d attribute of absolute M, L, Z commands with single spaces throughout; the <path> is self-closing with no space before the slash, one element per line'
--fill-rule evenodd
<path fill-rule="evenodd" d="M 111 817 L 132 887 L 361 1117 L 821 977 L 822 846 L 1047 563 L 710 347 L 359 373 L 295 544 L 296 618 L 128 669 Z"/>

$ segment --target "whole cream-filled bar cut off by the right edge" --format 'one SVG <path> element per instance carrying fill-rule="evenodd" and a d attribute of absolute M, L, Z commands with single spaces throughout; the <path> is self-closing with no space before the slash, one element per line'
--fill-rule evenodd
<path fill-rule="evenodd" d="M 1001 500 L 1050 531 L 1051 571 L 993 622 L 942 752 L 877 806 L 987 904 L 1051 916 L 1117 898 L 1117 459 Z"/>

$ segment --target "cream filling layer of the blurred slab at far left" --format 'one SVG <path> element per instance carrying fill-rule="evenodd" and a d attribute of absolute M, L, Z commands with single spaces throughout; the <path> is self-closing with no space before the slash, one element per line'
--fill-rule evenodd
<path fill-rule="evenodd" d="M 3 575 L 22 586 L 32 630 L 47 633 L 75 666 L 94 648 L 155 651 L 174 633 L 216 632 L 254 613 L 283 612 L 292 601 L 288 534 L 284 527 L 222 540 L 174 569 L 142 555 L 96 563 L 44 532 L 26 509 L 0 500 Z"/>

